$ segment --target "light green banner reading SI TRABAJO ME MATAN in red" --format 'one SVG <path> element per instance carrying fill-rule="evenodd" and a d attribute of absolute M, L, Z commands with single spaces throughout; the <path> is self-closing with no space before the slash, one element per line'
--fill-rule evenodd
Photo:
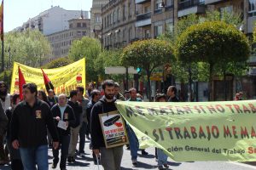
<path fill-rule="evenodd" d="M 256 100 L 116 105 L 141 148 L 175 161 L 256 161 Z"/>

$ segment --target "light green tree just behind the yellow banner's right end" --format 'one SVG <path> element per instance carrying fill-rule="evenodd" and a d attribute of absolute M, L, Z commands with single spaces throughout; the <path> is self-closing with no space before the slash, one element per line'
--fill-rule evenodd
<path fill-rule="evenodd" d="M 83 37 L 81 40 L 76 40 L 68 53 L 68 59 L 77 61 L 85 57 L 86 81 L 97 81 L 94 62 L 101 54 L 101 42 L 90 37 Z"/>

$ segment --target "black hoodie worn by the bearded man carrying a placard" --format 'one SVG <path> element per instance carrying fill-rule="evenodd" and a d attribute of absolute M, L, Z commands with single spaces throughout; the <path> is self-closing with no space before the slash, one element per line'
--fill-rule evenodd
<path fill-rule="evenodd" d="M 90 112 L 90 136 L 92 149 L 100 149 L 100 147 L 106 147 L 104 143 L 104 138 L 102 134 L 102 127 L 99 118 L 99 114 L 108 113 L 110 111 L 117 111 L 117 108 L 114 105 L 116 99 L 113 99 L 112 102 L 107 102 L 105 96 L 102 97 L 93 107 Z"/>

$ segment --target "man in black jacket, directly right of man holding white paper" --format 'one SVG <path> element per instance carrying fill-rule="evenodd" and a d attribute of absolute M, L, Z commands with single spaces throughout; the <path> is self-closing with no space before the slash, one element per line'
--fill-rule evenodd
<path fill-rule="evenodd" d="M 80 122 L 82 122 L 82 106 L 79 105 L 78 92 L 76 90 L 72 90 L 70 92 L 70 99 L 67 101 L 67 105 L 70 105 L 73 109 L 74 116 L 76 117 L 76 122 L 73 127 L 70 127 L 70 143 L 68 148 L 68 157 L 67 161 L 69 163 L 75 161 L 75 153 L 76 153 L 76 146 L 79 140 L 79 130 L 80 130 Z"/>

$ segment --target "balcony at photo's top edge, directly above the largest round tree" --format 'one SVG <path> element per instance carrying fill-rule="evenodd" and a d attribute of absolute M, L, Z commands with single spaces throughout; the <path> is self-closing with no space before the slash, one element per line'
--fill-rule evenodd
<path fill-rule="evenodd" d="M 206 6 L 203 0 L 187 0 L 178 3 L 177 17 L 183 17 L 189 14 L 203 14 L 205 12 Z"/>

